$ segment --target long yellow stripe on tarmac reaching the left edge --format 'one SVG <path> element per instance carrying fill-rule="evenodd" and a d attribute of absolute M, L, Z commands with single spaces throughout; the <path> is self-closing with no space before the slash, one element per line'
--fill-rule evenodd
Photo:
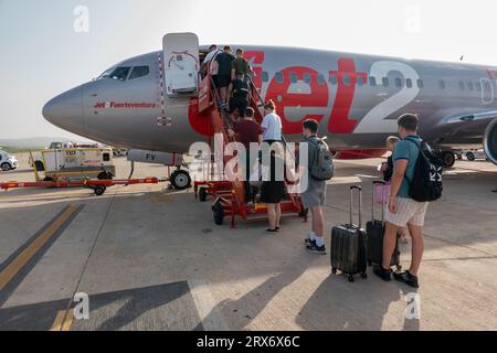
<path fill-rule="evenodd" d="M 40 248 L 50 240 L 50 238 L 59 231 L 62 225 L 77 210 L 77 206 L 68 206 L 45 231 L 43 231 L 21 254 L 18 255 L 10 264 L 0 272 L 0 290 L 2 290 L 15 275 L 29 263 L 29 260 L 40 250 Z"/>

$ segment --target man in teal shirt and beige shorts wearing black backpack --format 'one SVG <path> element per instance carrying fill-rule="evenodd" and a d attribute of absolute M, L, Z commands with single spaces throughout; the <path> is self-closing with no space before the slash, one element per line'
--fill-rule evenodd
<path fill-rule="evenodd" d="M 383 264 L 374 267 L 374 274 L 383 280 L 391 280 L 390 259 L 396 232 L 408 225 L 412 238 L 411 267 L 406 271 L 393 274 L 393 277 L 417 288 L 417 271 L 424 252 L 424 216 L 430 201 L 442 195 L 442 162 L 417 135 L 416 115 L 402 115 L 398 125 L 402 140 L 392 156 L 394 168 L 384 216 Z"/>

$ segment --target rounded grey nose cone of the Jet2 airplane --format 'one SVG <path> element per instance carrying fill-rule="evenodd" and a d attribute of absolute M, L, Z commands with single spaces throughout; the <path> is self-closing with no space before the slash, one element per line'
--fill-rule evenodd
<path fill-rule="evenodd" d="M 43 117 L 51 124 L 77 133 L 84 132 L 83 87 L 70 89 L 49 100 Z"/>

